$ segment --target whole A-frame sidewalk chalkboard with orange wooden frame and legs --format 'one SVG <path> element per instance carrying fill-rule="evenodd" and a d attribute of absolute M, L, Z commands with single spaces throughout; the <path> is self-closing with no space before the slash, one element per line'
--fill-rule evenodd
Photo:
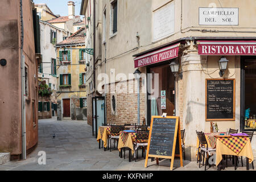
<path fill-rule="evenodd" d="M 180 123 L 179 117 L 167 116 L 152 116 L 150 125 L 150 136 L 147 146 L 147 156 L 145 167 L 147 167 L 148 157 L 171 159 L 171 167 L 174 166 L 174 157 L 180 157 L 182 162 L 181 138 L 180 138 Z"/>

